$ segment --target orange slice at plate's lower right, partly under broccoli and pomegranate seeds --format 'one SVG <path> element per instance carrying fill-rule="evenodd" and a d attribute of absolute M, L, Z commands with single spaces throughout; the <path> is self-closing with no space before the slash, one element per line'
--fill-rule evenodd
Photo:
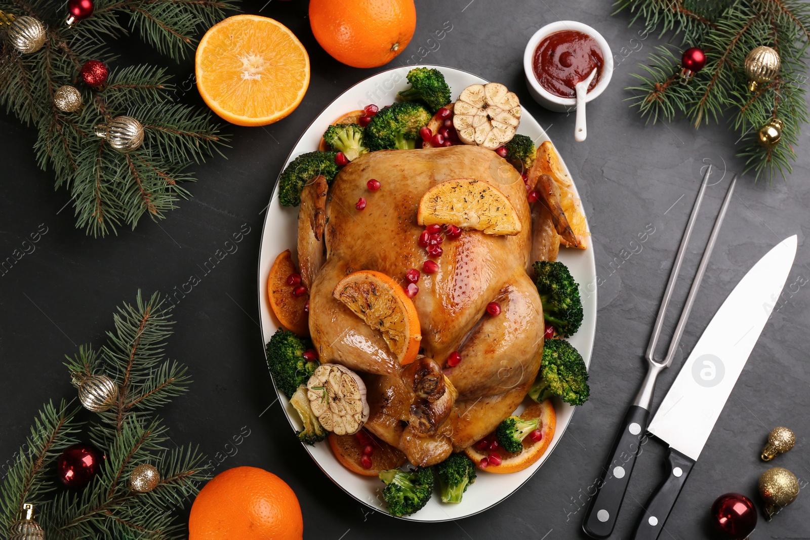
<path fill-rule="evenodd" d="M 543 457 L 543 454 L 548 449 L 548 444 L 552 442 L 554 437 L 554 430 L 556 429 L 556 412 L 552 400 L 547 399 L 542 403 L 531 402 L 531 405 L 522 412 L 520 418 L 527 420 L 533 418 L 540 419 L 540 432 L 543 433 L 541 438 L 536 443 L 531 438 L 526 437 L 523 439 L 523 449 L 518 453 L 506 452 L 500 446 L 495 453 L 501 457 L 501 465 L 488 465 L 484 470 L 489 473 L 516 473 L 518 470 L 524 470 L 531 464 Z M 484 440 L 492 441 L 495 439 L 495 433 L 490 433 L 484 437 Z M 475 466 L 480 466 L 481 460 L 484 457 L 489 458 L 492 451 L 488 449 L 477 449 L 476 444 L 464 450 L 474 463 Z"/>

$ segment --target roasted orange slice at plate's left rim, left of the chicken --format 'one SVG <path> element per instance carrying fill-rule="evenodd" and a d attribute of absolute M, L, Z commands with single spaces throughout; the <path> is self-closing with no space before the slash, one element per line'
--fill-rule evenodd
<path fill-rule="evenodd" d="M 309 313 L 305 311 L 309 294 L 295 296 L 292 291 L 296 285 L 288 285 L 290 274 L 298 274 L 298 269 L 292 262 L 292 253 L 287 249 L 275 257 L 275 262 L 267 276 L 267 298 L 270 308 L 281 325 L 300 336 L 309 335 Z"/>

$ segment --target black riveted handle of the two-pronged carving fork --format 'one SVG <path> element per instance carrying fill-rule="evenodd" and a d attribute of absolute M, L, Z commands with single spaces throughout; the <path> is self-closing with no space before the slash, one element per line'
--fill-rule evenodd
<path fill-rule="evenodd" d="M 602 467 L 602 476 L 596 483 L 596 495 L 590 500 L 582 522 L 582 530 L 591 538 L 608 538 L 613 532 L 649 417 L 649 410 L 632 405 L 621 422 L 608 461 Z"/>

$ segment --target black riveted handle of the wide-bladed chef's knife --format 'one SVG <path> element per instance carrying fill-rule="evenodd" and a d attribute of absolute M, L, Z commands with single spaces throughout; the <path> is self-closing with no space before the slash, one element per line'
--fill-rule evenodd
<path fill-rule="evenodd" d="M 691 457 L 686 457 L 676 449 L 669 449 L 667 452 L 667 478 L 656 488 L 650 500 L 644 507 L 642 521 L 636 527 L 634 540 L 656 540 L 663 530 L 663 524 L 667 522 L 669 512 L 675 506 L 675 501 L 680 495 L 680 490 L 686 483 L 689 472 L 695 465 Z"/>

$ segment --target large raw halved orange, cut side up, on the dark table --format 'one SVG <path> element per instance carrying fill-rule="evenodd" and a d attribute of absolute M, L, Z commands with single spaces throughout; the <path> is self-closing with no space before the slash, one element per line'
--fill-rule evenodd
<path fill-rule="evenodd" d="M 234 15 L 209 28 L 194 69 L 203 101 L 237 125 L 281 120 L 309 87 L 304 45 L 282 23 L 258 15 Z"/>

